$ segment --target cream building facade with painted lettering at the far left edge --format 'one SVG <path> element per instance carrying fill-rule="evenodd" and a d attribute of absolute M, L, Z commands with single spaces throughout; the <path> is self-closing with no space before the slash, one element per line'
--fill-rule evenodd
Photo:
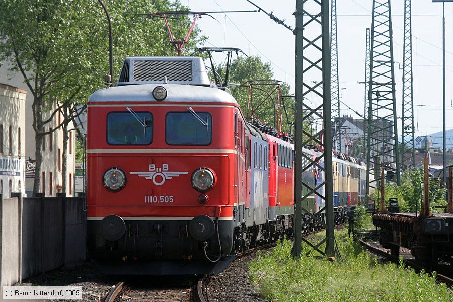
<path fill-rule="evenodd" d="M 27 91 L 0 84 L 0 194 L 25 193 Z"/>

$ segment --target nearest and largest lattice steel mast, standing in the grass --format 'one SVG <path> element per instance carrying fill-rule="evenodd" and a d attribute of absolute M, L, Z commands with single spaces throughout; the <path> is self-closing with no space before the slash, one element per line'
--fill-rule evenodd
<path fill-rule="evenodd" d="M 292 254 L 301 256 L 302 242 L 306 242 L 313 250 L 326 256 L 335 255 L 334 237 L 334 207 L 333 207 L 333 176 L 332 176 L 332 118 L 330 97 L 330 47 L 329 47 L 329 1 L 328 0 L 296 0 L 296 171 L 295 171 L 295 205 L 294 205 L 294 247 Z M 320 72 L 321 71 L 321 72 Z M 318 77 L 318 81 L 309 81 Z M 304 98 L 314 93 L 322 101 L 321 105 L 305 103 Z M 319 131 L 309 133 L 304 130 L 304 123 L 320 119 L 322 124 Z M 318 130 L 318 129 L 317 129 Z M 322 137 L 322 139 L 320 139 Z M 305 145 L 318 145 L 320 154 L 314 159 L 303 153 Z M 308 164 L 304 164 L 304 161 Z M 320 162 L 324 165 L 320 165 Z M 304 183 L 301 176 L 305 171 L 314 169 L 324 173 L 325 179 L 321 184 L 311 186 Z M 307 188 L 306 195 L 302 189 Z M 324 188 L 324 190 L 323 190 Z M 320 189 L 320 190 L 318 190 Z M 322 193 L 318 193 L 322 192 Z M 325 202 L 314 215 L 306 207 L 314 194 Z M 306 212 L 310 218 L 303 222 L 302 214 Z M 321 219 L 325 214 L 326 222 Z M 318 221 L 326 228 L 326 237 L 317 244 L 312 244 L 302 237 L 303 226 Z M 321 251 L 319 247 L 326 243 Z M 309 254 L 308 252 L 307 254 Z"/>

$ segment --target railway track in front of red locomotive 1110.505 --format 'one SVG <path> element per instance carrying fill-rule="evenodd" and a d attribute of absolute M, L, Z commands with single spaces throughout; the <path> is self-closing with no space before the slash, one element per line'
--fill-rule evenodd
<path fill-rule="evenodd" d="M 205 276 L 195 280 L 191 286 L 177 284 L 175 287 L 140 286 L 134 281 L 116 284 L 105 297 L 105 302 L 115 301 L 187 301 L 206 302 L 203 281 Z"/>

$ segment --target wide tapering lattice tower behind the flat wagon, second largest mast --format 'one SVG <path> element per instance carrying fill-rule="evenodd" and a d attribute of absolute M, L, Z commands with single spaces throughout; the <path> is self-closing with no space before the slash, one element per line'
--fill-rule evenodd
<path fill-rule="evenodd" d="M 400 185 L 390 0 L 373 0 L 369 79 L 366 182 L 379 184 L 380 168 L 384 166 L 388 172 L 395 172 Z M 370 175 L 374 180 L 370 181 Z M 368 196 L 368 185 L 366 190 Z"/>

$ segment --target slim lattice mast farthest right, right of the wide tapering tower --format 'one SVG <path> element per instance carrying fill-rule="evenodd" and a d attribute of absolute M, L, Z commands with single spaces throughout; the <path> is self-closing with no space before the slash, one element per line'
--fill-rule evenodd
<path fill-rule="evenodd" d="M 412 89 L 411 0 L 404 0 L 403 115 L 401 116 L 401 165 L 415 167 L 414 99 Z"/>

